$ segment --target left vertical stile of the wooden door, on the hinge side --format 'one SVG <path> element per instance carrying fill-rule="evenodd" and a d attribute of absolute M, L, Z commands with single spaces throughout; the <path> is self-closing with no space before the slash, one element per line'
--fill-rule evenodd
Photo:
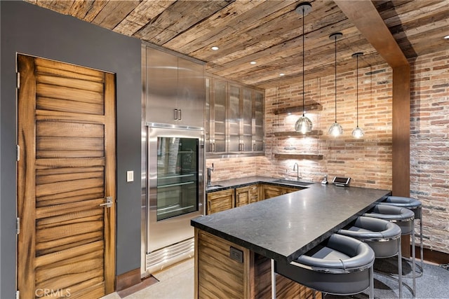
<path fill-rule="evenodd" d="M 34 58 L 18 55 L 20 90 L 18 92 L 18 216 L 20 234 L 18 235 L 18 290 L 23 298 L 35 296 L 36 264 L 36 130 L 34 109 L 36 109 L 36 77 Z M 22 249 L 26 249 L 21 252 Z M 26 259 L 26 260 L 25 260 Z"/>

